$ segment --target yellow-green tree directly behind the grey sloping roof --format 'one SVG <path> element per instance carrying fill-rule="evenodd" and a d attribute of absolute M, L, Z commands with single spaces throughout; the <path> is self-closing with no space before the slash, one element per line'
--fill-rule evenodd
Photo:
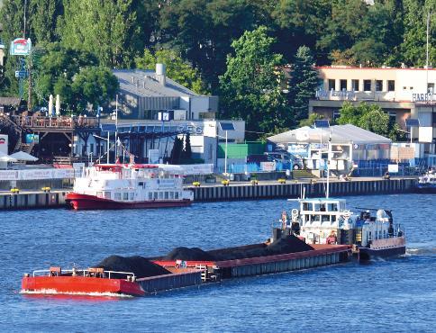
<path fill-rule="evenodd" d="M 142 57 L 135 58 L 137 68 L 155 70 L 156 64 L 162 63 L 167 67 L 167 76 L 180 85 L 195 91 L 198 94 L 206 93 L 204 82 L 198 70 L 180 58 L 173 49 L 159 49 L 154 54 L 144 49 Z"/>

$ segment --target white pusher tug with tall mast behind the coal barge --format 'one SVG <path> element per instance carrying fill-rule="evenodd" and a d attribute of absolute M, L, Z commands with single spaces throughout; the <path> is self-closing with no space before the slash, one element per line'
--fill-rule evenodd
<path fill-rule="evenodd" d="M 329 157 L 331 150 L 329 139 Z M 304 199 L 303 191 L 299 210 L 291 211 L 292 232 L 308 244 L 348 244 L 359 260 L 404 255 L 404 230 L 394 225 L 392 211 L 362 208 L 359 216 L 354 215 L 345 199 L 329 198 L 329 174 L 327 163 L 325 198 Z M 376 216 L 370 211 L 377 211 Z M 287 220 L 286 211 L 282 220 Z"/>

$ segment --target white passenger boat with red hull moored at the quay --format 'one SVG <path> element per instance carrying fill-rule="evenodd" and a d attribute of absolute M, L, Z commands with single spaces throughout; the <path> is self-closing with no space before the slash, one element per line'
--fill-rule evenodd
<path fill-rule="evenodd" d="M 86 167 L 65 198 L 75 210 L 183 207 L 193 200 L 174 168 L 135 163 Z"/>

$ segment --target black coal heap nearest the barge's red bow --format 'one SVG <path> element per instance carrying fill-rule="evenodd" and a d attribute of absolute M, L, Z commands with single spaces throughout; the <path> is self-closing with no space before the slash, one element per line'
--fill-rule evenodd
<path fill-rule="evenodd" d="M 167 275 L 171 273 L 164 267 L 156 265 L 150 262 L 150 260 L 148 260 L 147 258 L 141 256 L 106 257 L 95 267 L 102 267 L 105 271 L 132 272 L 138 278 L 156 275 Z M 114 275 L 114 277 L 121 278 L 123 276 Z"/>

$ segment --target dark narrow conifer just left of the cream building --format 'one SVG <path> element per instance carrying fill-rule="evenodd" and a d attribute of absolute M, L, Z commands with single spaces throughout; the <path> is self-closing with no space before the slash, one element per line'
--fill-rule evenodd
<path fill-rule="evenodd" d="M 298 48 L 292 68 L 289 98 L 295 121 L 300 121 L 307 118 L 309 99 L 314 97 L 318 86 L 318 72 L 313 67 L 313 57 L 309 48 Z"/>

